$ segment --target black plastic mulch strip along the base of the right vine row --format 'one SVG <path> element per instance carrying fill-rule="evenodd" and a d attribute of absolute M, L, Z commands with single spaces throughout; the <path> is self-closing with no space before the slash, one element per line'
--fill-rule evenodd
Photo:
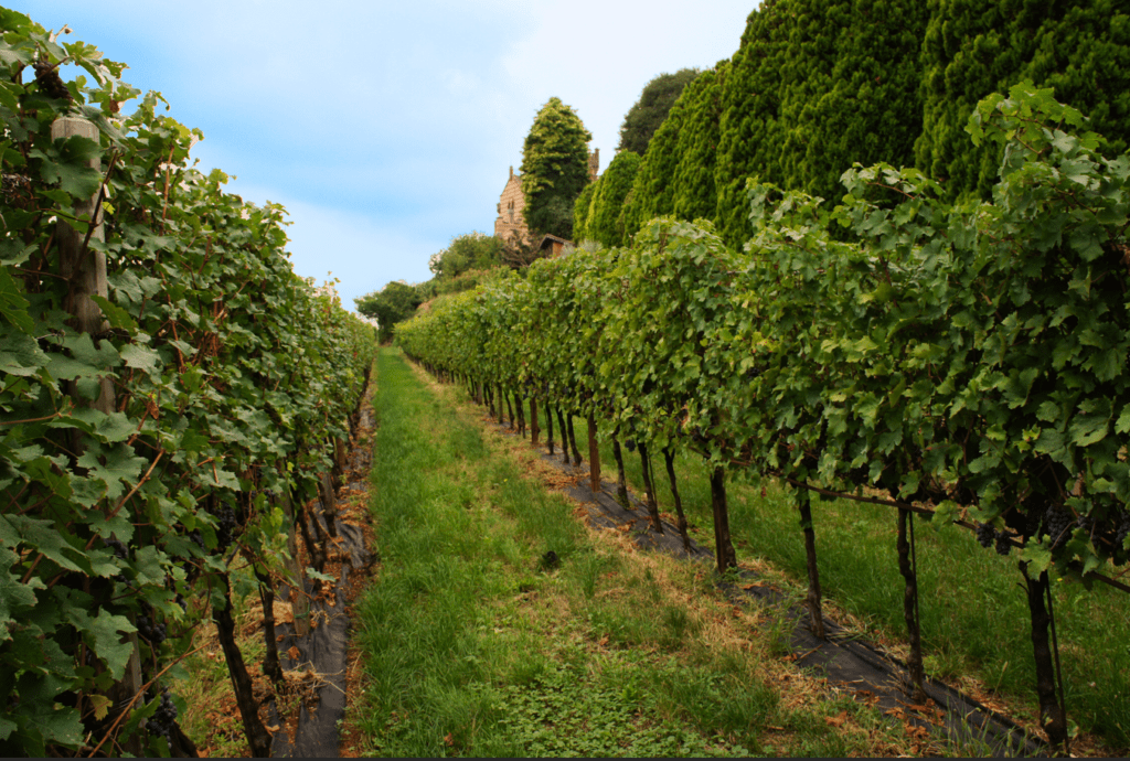
<path fill-rule="evenodd" d="M 506 426 L 495 428 L 513 434 Z M 698 562 L 714 562 L 714 553 L 692 540 L 689 554 L 683 548 L 678 528 L 663 522 L 663 533 L 652 528 L 646 506 L 629 495 L 631 509 L 625 509 L 612 497 L 616 484 L 601 483 L 601 490 L 593 492 L 589 484 L 588 464 L 566 465 L 560 454 L 549 455 L 542 448 L 541 460 L 559 471 L 577 475 L 575 483 L 565 493 L 582 504 L 589 511 L 589 523 L 598 530 L 621 530 L 636 546 L 662 550 L 679 558 Z M 781 614 L 794 622 L 790 636 L 790 648 L 794 663 L 814 674 L 826 677 L 829 684 L 846 689 L 857 700 L 890 711 L 894 720 L 905 721 L 925 728 L 936 737 L 957 743 L 958 747 L 982 747 L 997 756 L 1045 755 L 1046 744 L 1031 737 L 1007 716 L 1002 716 L 959 690 L 928 680 L 927 697 L 935 708 L 915 706 L 911 702 L 906 688 L 910 676 L 905 664 L 869 642 L 844 630 L 838 623 L 824 618 L 827 640 L 817 639 L 811 629 L 811 615 L 807 607 L 790 602 L 781 589 L 765 583 L 754 571 L 742 570 L 740 584 L 719 583 L 718 586 L 734 603 L 758 601 L 779 607 Z M 749 588 L 746 588 L 749 587 Z M 920 708 L 925 710 L 920 710 Z"/>

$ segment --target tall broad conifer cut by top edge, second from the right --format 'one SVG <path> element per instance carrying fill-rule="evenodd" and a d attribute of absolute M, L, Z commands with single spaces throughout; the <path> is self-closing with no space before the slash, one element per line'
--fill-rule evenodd
<path fill-rule="evenodd" d="M 766 0 L 750 14 L 715 175 L 730 245 L 750 231 L 747 177 L 835 200 L 854 161 L 912 163 L 927 19 L 922 0 Z"/>

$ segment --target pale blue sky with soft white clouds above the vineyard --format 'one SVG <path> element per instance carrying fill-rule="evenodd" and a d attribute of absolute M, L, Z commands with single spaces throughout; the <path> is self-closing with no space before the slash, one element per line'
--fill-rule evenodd
<path fill-rule="evenodd" d="M 168 115 L 199 128 L 199 167 L 281 203 L 295 271 L 338 279 L 342 306 L 432 277 L 495 204 L 551 97 L 616 155 L 649 80 L 738 49 L 757 0 L 0 0 L 64 24 Z M 73 67 L 71 67 L 73 69 Z M 67 73 L 63 73 L 64 78 Z M 131 111 L 127 104 L 124 111 Z"/>

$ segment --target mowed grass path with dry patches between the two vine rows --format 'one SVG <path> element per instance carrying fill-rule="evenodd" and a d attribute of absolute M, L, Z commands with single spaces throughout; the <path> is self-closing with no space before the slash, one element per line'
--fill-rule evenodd
<path fill-rule="evenodd" d="M 380 565 L 357 605 L 367 754 L 824 755 L 924 750 L 772 655 L 711 569 L 590 533 L 466 394 L 377 360 Z M 460 401 L 461 403 L 458 403 Z M 553 551 L 557 562 L 547 562 Z M 765 632 L 765 633 L 762 633 Z"/>

